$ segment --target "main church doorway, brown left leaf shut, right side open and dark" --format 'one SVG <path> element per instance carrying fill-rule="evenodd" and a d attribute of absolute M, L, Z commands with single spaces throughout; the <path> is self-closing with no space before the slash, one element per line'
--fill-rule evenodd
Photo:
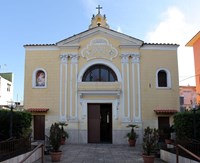
<path fill-rule="evenodd" d="M 112 104 L 88 104 L 88 143 L 112 143 Z"/>

